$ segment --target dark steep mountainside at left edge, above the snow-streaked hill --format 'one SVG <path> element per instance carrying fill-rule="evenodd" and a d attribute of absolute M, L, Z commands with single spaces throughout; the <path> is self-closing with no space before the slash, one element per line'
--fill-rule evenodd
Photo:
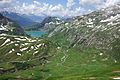
<path fill-rule="evenodd" d="M 24 30 L 14 21 L 0 14 L 0 33 L 25 35 Z"/>

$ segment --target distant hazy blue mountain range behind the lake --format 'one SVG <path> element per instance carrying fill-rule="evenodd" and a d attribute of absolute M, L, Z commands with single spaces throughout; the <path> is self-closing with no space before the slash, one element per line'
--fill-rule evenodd
<path fill-rule="evenodd" d="M 5 17 L 15 21 L 18 25 L 21 27 L 27 27 L 29 25 L 33 25 L 36 23 L 40 23 L 44 17 L 41 16 L 35 16 L 35 15 L 25 15 L 25 14 L 19 14 L 14 12 L 0 12 Z"/>

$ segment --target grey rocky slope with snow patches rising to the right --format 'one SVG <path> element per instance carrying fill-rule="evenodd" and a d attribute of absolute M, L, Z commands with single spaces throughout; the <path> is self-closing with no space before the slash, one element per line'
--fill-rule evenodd
<path fill-rule="evenodd" d="M 73 21 L 52 23 L 47 27 L 53 26 L 48 37 L 61 46 L 95 47 L 117 60 L 120 57 L 120 5 L 74 17 Z"/>

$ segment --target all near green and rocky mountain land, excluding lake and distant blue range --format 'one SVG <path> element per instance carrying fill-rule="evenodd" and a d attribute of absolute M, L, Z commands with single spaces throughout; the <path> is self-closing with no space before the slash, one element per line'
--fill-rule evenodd
<path fill-rule="evenodd" d="M 28 28 L 46 31 L 40 38 L 22 35 L 2 14 L 0 25 L 1 80 L 119 79 L 120 5 L 65 20 L 47 17 Z"/>

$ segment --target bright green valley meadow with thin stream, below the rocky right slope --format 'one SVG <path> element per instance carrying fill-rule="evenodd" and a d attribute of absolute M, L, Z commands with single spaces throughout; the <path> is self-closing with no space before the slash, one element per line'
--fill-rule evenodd
<path fill-rule="evenodd" d="M 111 51 L 106 54 L 96 48 L 80 46 L 70 48 L 68 47 L 70 43 L 64 34 L 56 34 L 49 39 L 58 43 L 61 49 L 52 58 L 51 63 L 46 65 L 46 68 L 49 69 L 47 80 L 88 80 L 92 78 L 110 80 L 112 77 L 120 76 L 119 61 L 116 62 L 115 58 L 110 55 Z M 114 52 L 112 51 L 112 53 Z"/>

